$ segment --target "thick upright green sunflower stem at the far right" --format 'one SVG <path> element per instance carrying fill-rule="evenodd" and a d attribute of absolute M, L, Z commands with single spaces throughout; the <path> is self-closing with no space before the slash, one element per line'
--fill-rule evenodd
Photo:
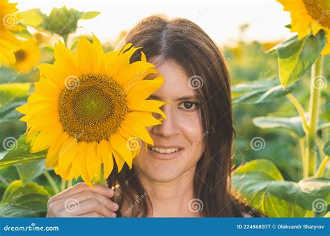
<path fill-rule="evenodd" d="M 322 56 L 317 58 L 312 67 L 311 98 L 309 103 L 309 130 L 306 134 L 306 158 L 308 163 L 308 176 L 315 173 L 315 137 L 317 133 L 318 110 L 320 106 L 321 88 L 316 85 L 316 79 L 322 74 Z"/>

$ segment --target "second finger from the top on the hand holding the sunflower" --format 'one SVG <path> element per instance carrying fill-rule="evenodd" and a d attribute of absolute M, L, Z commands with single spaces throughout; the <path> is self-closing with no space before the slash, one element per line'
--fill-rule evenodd
<path fill-rule="evenodd" d="M 110 199 L 108 199 L 106 196 L 99 194 L 97 192 L 91 191 L 91 189 L 84 190 L 83 192 L 79 192 L 78 194 L 74 194 L 72 196 L 68 196 L 65 199 L 61 199 L 59 201 L 56 201 L 52 203 L 52 207 L 55 207 L 58 210 L 63 210 L 63 209 L 73 209 L 77 208 L 77 204 L 80 204 L 83 201 L 86 201 L 88 199 L 97 199 L 105 205 L 109 210 L 116 212 L 118 210 L 119 206 L 117 203 L 114 203 Z"/>

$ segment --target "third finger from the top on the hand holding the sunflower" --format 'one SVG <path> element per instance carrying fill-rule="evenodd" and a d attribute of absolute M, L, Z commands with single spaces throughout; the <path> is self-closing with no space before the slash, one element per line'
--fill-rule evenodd
<path fill-rule="evenodd" d="M 87 199 L 86 201 L 74 205 L 74 208 L 65 208 L 59 212 L 59 215 L 61 217 L 68 217 L 68 215 L 81 215 L 89 212 L 97 212 L 102 214 L 104 217 L 113 217 L 116 215 L 116 213 L 109 210 L 97 199 Z"/>

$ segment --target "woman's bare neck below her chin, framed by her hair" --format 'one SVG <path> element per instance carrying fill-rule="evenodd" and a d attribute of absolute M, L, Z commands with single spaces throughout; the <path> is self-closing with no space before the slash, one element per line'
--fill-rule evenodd
<path fill-rule="evenodd" d="M 195 171 L 196 168 L 190 168 L 168 182 L 159 182 L 138 174 L 152 203 L 147 217 L 199 217 L 199 212 L 189 210 L 189 201 L 194 199 Z"/>

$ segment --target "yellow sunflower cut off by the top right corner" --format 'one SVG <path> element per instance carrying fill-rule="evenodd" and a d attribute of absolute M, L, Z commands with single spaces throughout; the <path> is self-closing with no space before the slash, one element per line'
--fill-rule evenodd
<path fill-rule="evenodd" d="M 330 53 L 330 1 L 329 0 L 277 0 L 285 11 L 291 13 L 291 32 L 298 33 L 298 39 L 309 33 L 316 35 L 325 31 L 327 44 L 322 55 Z"/>

